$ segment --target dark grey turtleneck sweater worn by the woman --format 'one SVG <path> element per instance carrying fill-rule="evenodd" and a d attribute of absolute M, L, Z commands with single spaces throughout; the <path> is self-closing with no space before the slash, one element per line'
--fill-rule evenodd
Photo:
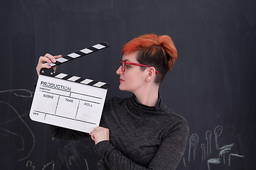
<path fill-rule="evenodd" d="M 188 123 L 162 103 L 153 107 L 130 98 L 105 102 L 100 126 L 110 130 L 110 141 L 95 145 L 102 157 L 102 169 L 176 169 L 188 139 Z M 77 140 L 88 135 L 50 126 L 53 136 Z"/>

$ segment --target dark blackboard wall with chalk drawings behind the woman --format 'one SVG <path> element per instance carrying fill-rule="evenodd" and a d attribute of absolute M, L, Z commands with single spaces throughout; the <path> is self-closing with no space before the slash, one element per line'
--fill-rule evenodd
<path fill-rule="evenodd" d="M 58 72 L 108 82 L 107 98 L 124 98 L 122 45 L 145 33 L 170 35 L 178 50 L 160 87 L 190 124 L 177 169 L 256 169 L 255 9 L 254 0 L 1 1 L 0 169 L 100 169 L 90 138 L 55 140 L 28 117 L 38 57 L 108 42 Z"/>

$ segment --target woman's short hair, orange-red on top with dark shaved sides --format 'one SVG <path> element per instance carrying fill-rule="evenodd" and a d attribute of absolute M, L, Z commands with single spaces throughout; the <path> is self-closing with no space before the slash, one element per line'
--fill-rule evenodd
<path fill-rule="evenodd" d="M 123 46 L 122 55 L 132 52 L 139 52 L 138 62 L 149 64 L 159 71 L 159 74 L 156 75 L 159 77 L 159 80 L 156 81 L 158 83 L 161 83 L 167 72 L 171 71 L 174 62 L 178 60 L 176 47 L 168 35 L 140 35 Z"/>

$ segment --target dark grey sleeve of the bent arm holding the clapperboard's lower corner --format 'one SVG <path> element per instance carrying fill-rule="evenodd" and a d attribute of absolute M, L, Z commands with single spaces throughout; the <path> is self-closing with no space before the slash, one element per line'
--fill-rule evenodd
<path fill-rule="evenodd" d="M 109 141 L 102 141 L 95 145 L 96 151 L 105 163 L 105 169 L 176 169 L 183 156 L 188 139 L 188 124 L 177 123 L 166 134 L 161 145 L 159 145 L 153 159 L 148 165 L 142 166 L 132 159 L 127 158 L 122 152 L 116 149 Z M 138 158 L 137 158 L 138 159 Z"/>

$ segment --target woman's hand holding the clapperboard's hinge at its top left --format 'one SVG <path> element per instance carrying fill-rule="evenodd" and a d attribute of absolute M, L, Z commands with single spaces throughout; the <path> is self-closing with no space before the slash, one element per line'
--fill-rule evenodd
<path fill-rule="evenodd" d="M 50 66 L 48 64 L 46 64 L 46 62 L 48 62 L 49 64 L 51 63 L 55 63 L 56 62 L 56 59 L 60 58 L 61 55 L 50 55 L 50 54 L 46 54 L 45 56 L 41 56 L 39 57 L 39 60 L 38 60 L 38 65 L 36 66 L 36 72 L 37 74 L 39 75 L 40 73 L 40 70 L 42 68 L 47 68 L 47 69 L 50 69 Z M 56 69 L 56 66 L 53 67 L 53 70 L 55 71 Z"/>

